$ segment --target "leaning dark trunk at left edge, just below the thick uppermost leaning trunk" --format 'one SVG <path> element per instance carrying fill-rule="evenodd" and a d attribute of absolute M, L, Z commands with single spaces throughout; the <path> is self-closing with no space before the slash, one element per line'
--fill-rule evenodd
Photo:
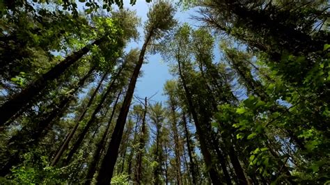
<path fill-rule="evenodd" d="M 40 122 L 36 124 L 36 128 L 30 129 L 29 127 L 23 127 L 18 134 L 13 136 L 8 141 L 8 151 L 15 151 L 13 154 L 10 154 L 9 161 L 6 164 L 3 164 L 0 170 L 0 176 L 3 177 L 10 172 L 10 168 L 17 165 L 21 160 L 19 156 L 27 152 L 29 147 L 32 147 L 38 143 L 42 136 L 42 131 L 45 131 L 47 127 L 50 127 L 50 123 L 54 118 L 58 117 L 59 112 L 63 111 L 63 109 L 71 102 L 72 97 L 77 90 L 84 86 L 84 83 L 88 77 L 91 76 L 93 69 L 91 69 L 88 74 L 86 74 L 80 81 L 77 86 L 71 91 L 70 95 L 67 95 L 53 111 L 50 113 L 45 119 L 42 119 Z M 27 140 L 27 141 L 26 141 Z"/>

